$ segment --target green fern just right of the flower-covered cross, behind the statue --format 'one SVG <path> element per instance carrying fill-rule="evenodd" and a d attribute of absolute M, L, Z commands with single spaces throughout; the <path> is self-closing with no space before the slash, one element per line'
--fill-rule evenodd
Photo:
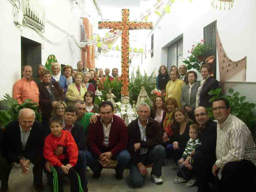
<path fill-rule="evenodd" d="M 133 72 L 131 74 L 131 80 L 130 80 L 130 104 L 132 105 L 132 101 L 137 102 L 138 95 L 140 94 L 141 87 L 144 86 L 145 90 L 150 97 L 151 91 L 155 88 L 154 82 L 153 82 L 153 72 L 151 73 L 151 76 L 147 76 L 147 73 L 144 71 L 144 76 L 142 76 L 140 67 L 136 70 L 136 77 L 134 76 L 134 68 Z"/>

